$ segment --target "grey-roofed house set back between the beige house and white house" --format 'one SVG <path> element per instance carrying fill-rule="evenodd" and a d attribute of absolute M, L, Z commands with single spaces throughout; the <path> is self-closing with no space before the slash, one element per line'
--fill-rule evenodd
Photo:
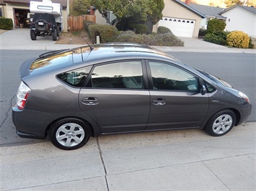
<path fill-rule="evenodd" d="M 193 9 L 199 11 L 200 13 L 204 14 L 206 18 L 202 19 L 200 23 L 200 28 L 201 29 L 207 29 L 207 23 L 208 20 L 211 19 L 221 19 L 226 21 L 226 17 L 223 17 L 219 13 L 221 11 L 224 11 L 224 8 L 221 7 L 216 7 L 216 6 L 206 6 L 206 5 L 201 5 L 201 4 L 189 4 Z"/>

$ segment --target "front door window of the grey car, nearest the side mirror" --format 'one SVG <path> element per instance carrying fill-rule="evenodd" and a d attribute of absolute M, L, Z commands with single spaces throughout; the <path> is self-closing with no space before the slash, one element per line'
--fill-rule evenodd
<path fill-rule="evenodd" d="M 198 91 L 198 77 L 162 62 L 149 62 L 155 90 Z"/>

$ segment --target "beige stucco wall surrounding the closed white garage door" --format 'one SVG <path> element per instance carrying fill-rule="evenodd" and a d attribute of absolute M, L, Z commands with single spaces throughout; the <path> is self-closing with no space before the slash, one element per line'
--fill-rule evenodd
<path fill-rule="evenodd" d="M 200 29 L 201 17 L 198 14 L 195 14 L 190 9 L 187 9 L 185 6 L 172 1 L 172 0 L 164 0 L 164 10 L 162 11 L 164 17 L 175 17 L 180 19 L 192 19 L 195 20 L 195 29 L 193 32 L 193 37 L 198 37 L 198 32 Z M 153 26 L 153 32 L 156 32 L 158 24 Z"/>

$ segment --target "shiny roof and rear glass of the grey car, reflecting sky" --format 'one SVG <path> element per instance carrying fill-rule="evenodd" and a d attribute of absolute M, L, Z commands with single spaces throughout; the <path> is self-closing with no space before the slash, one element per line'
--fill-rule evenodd
<path fill-rule="evenodd" d="M 87 45 L 66 50 L 45 52 L 33 62 L 20 68 L 21 76 L 35 75 L 49 70 L 71 70 L 92 63 L 110 62 L 126 59 L 151 59 L 179 61 L 167 53 L 152 47 L 132 43 L 105 43 Z"/>

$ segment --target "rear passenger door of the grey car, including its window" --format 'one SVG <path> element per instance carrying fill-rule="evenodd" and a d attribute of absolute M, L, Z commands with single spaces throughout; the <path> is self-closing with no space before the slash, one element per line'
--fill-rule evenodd
<path fill-rule="evenodd" d="M 149 118 L 149 90 L 145 89 L 141 60 L 95 65 L 79 106 L 94 118 L 102 134 L 141 131 Z"/>

